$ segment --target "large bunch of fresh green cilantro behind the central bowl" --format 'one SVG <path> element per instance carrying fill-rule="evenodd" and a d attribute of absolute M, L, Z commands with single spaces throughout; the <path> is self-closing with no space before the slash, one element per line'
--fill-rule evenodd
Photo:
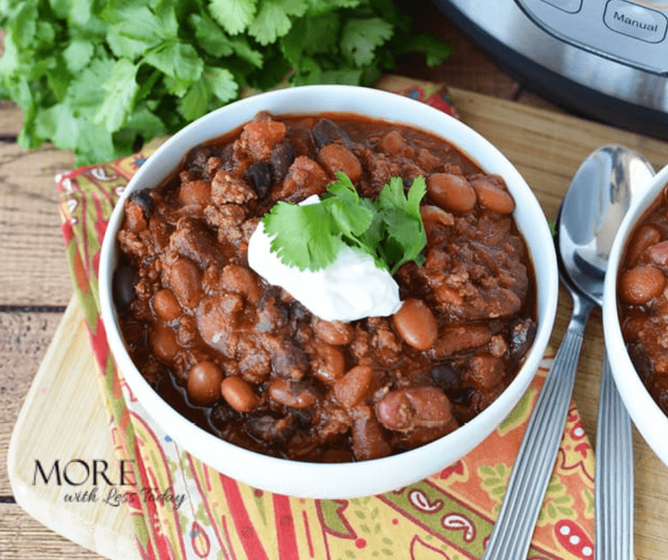
<path fill-rule="evenodd" d="M 408 51 L 449 53 L 392 0 L 0 0 L 0 98 L 97 163 L 172 134 L 247 89 L 372 85 Z"/>

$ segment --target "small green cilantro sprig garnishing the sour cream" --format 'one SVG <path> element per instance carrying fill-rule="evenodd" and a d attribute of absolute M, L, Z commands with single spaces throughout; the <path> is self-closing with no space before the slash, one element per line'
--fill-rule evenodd
<path fill-rule="evenodd" d="M 345 173 L 336 174 L 318 204 L 279 202 L 262 223 L 271 251 L 284 264 L 300 270 L 319 270 L 332 264 L 343 244 L 370 254 L 376 266 L 394 274 L 402 264 L 422 264 L 426 233 L 420 201 L 426 193 L 424 177 L 416 178 L 408 193 L 404 181 L 392 177 L 377 200 L 364 198 Z"/>

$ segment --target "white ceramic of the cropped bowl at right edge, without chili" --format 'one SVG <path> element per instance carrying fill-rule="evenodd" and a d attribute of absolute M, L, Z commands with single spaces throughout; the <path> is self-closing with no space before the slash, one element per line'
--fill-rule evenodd
<path fill-rule="evenodd" d="M 647 208 L 657 199 L 666 184 L 668 184 L 668 166 L 662 168 L 652 178 L 644 195 L 632 201 L 627 215 L 625 215 L 620 225 L 618 235 L 610 249 L 610 262 L 605 275 L 603 333 L 605 350 L 608 352 L 610 368 L 620 396 L 640 434 L 657 453 L 657 456 L 668 465 L 668 446 L 666 446 L 668 416 L 654 402 L 645 384 L 642 383 L 640 375 L 635 370 L 635 366 L 626 350 L 617 307 L 617 279 L 629 236 L 637 220 L 645 214 Z"/>

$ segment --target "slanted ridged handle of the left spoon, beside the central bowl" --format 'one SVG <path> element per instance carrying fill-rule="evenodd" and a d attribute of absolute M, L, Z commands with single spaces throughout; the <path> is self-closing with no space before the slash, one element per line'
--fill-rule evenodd
<path fill-rule="evenodd" d="M 585 324 L 593 303 L 573 294 L 573 316 L 524 432 L 499 517 L 481 560 L 527 557 L 564 434 Z"/>

